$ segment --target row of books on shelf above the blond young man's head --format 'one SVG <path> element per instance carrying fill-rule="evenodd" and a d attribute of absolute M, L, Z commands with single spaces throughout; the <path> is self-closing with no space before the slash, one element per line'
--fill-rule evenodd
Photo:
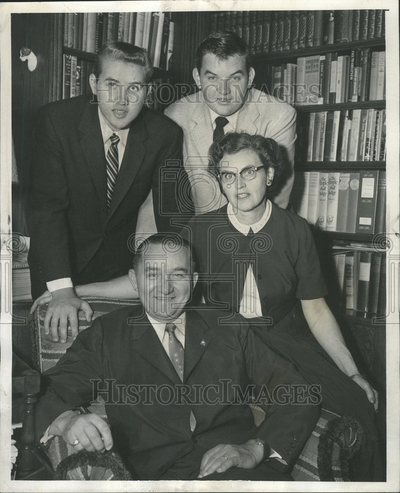
<path fill-rule="evenodd" d="M 154 67 L 172 68 L 174 23 L 171 12 L 87 12 L 64 14 L 64 46 L 97 53 L 109 41 L 145 48 Z"/>

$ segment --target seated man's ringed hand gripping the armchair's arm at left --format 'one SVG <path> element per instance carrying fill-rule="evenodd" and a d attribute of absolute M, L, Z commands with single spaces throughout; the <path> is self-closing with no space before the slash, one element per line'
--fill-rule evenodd
<path fill-rule="evenodd" d="M 109 425 L 97 414 L 66 411 L 51 423 L 49 434 L 62 436 L 76 452 L 110 450 L 113 445 Z"/>

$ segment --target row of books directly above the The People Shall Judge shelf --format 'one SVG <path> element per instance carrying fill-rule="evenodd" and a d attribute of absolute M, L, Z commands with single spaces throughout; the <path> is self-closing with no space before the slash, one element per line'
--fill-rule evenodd
<path fill-rule="evenodd" d="M 308 115 L 307 161 L 385 161 L 386 109 Z"/>

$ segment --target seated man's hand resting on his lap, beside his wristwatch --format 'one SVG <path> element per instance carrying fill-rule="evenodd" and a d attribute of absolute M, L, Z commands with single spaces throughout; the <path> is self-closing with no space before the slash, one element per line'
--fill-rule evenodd
<path fill-rule="evenodd" d="M 199 478 L 230 467 L 254 469 L 264 456 L 263 447 L 249 440 L 243 445 L 220 444 L 206 452 L 201 460 Z"/>

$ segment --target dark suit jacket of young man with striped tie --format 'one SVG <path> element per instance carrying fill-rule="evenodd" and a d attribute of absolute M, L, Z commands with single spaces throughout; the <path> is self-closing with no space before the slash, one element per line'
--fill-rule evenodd
<path fill-rule="evenodd" d="M 74 278 L 103 243 L 126 273 L 150 190 L 158 231 L 173 230 L 170 218 L 187 210 L 182 130 L 161 113 L 144 107 L 132 122 L 109 211 L 106 166 L 96 102 L 80 96 L 38 111 L 27 214 L 33 284 Z"/>

